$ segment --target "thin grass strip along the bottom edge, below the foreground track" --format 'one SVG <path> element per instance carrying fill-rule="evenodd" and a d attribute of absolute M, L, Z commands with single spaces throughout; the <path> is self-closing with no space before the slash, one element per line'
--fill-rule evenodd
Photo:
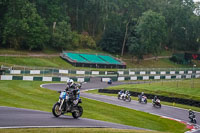
<path fill-rule="evenodd" d="M 28 128 L 0 129 L 2 133 L 161 133 L 157 131 L 139 131 L 112 128 Z"/>

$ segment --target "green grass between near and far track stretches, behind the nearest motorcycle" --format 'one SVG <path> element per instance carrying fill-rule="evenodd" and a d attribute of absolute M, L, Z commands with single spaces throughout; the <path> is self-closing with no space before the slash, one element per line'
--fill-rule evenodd
<path fill-rule="evenodd" d="M 51 112 L 59 94 L 40 88 L 40 81 L 0 81 L 0 105 Z M 83 117 L 151 130 L 182 133 L 185 125 L 124 107 L 83 98 Z"/>

